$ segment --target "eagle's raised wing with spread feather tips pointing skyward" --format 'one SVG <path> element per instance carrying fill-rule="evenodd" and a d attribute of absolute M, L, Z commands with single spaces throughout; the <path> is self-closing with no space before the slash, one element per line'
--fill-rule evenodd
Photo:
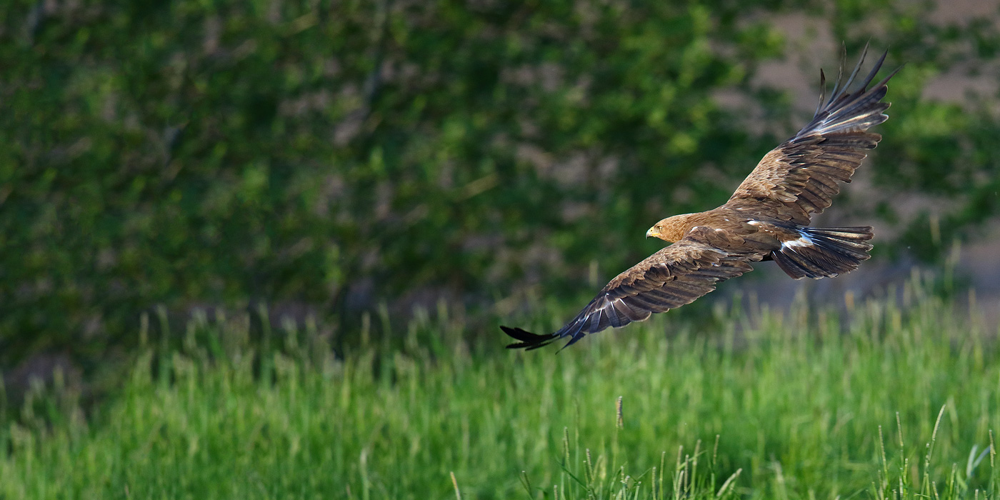
<path fill-rule="evenodd" d="M 868 48 L 865 47 L 865 52 Z M 830 206 L 840 191 L 838 182 L 850 182 L 854 169 L 867 156 L 882 136 L 867 132 L 869 127 L 884 122 L 889 103 L 882 102 L 885 77 L 867 88 L 878 73 L 885 54 L 865 78 L 860 89 L 848 92 L 865 56 L 855 66 L 851 76 L 841 85 L 843 64 L 830 100 L 824 105 L 825 77 L 820 71 L 819 106 L 813 120 L 794 137 L 771 150 L 757 168 L 743 181 L 727 205 L 766 210 L 767 215 L 798 224 L 808 224 L 810 215 L 821 213 Z"/>

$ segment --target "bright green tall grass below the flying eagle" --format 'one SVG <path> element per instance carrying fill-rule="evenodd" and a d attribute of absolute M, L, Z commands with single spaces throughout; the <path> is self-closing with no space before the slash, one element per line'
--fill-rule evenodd
<path fill-rule="evenodd" d="M 559 354 L 422 317 L 396 352 L 303 334 L 257 364 L 238 324 L 194 322 L 86 418 L 54 391 L 4 424 L 0 499 L 994 498 L 995 332 L 901 295 L 723 331 L 668 314 Z"/>

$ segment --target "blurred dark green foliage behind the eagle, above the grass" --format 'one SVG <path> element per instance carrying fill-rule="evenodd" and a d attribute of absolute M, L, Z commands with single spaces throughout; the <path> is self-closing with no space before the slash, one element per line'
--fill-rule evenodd
<path fill-rule="evenodd" d="M 794 131 L 788 96 L 753 77 L 791 50 L 775 16 L 799 12 L 852 58 L 871 39 L 909 63 L 870 165 L 881 185 L 953 200 L 941 231 L 955 237 L 997 212 L 996 106 L 921 88 L 987 67 L 1000 43 L 991 22 L 932 9 L 5 2 L 0 367 L 41 350 L 100 359 L 161 304 L 342 321 L 538 283 L 576 297 L 592 262 L 610 274 L 645 257 L 652 222 L 721 203 Z M 916 220 L 902 237 L 932 257 Z"/>

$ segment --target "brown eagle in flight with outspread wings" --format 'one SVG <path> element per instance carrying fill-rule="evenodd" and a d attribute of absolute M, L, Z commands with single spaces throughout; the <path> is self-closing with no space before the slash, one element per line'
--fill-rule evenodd
<path fill-rule="evenodd" d="M 566 326 L 537 335 L 500 328 L 518 340 L 508 348 L 537 349 L 568 337 L 566 346 L 589 333 L 622 327 L 690 304 L 715 285 L 753 270 L 751 262 L 773 260 L 789 276 L 823 278 L 857 269 L 867 260 L 872 228 L 809 227 L 812 214 L 830 206 L 838 183 L 851 175 L 882 136 L 868 132 L 884 122 L 882 102 L 896 69 L 868 88 L 886 54 L 849 91 L 865 59 L 841 82 L 843 62 L 830 99 L 820 70 L 820 98 L 811 122 L 767 153 L 721 207 L 675 215 L 657 222 L 646 237 L 673 243 L 611 280 Z M 825 101 L 825 102 L 824 102 Z M 564 347 L 566 347 L 564 346 Z"/>

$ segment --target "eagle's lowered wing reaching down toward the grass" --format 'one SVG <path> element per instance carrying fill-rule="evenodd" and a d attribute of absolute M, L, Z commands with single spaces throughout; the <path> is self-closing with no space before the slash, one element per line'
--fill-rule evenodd
<path fill-rule="evenodd" d="M 761 243 L 721 229 L 699 226 L 681 241 L 619 274 L 566 326 L 548 335 L 502 326 L 520 342 L 507 347 L 537 349 L 569 337 L 570 345 L 588 333 L 642 321 L 652 313 L 690 304 L 715 290 L 715 284 L 753 270 L 748 262 L 768 252 Z"/>

